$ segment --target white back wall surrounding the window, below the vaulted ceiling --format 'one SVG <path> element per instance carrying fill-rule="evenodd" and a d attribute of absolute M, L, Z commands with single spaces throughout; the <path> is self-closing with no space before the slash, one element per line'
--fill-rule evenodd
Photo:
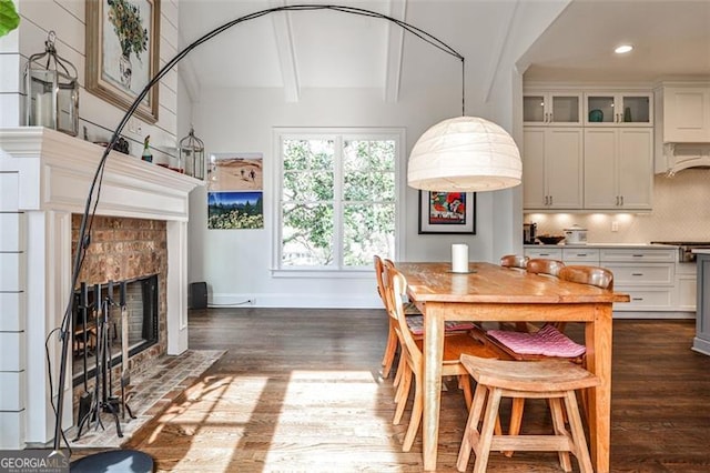
<path fill-rule="evenodd" d="M 454 78 L 455 79 L 455 78 Z M 406 130 L 405 157 L 416 139 L 435 122 L 456 113 L 458 88 L 438 94 L 408 93 L 397 103 L 386 103 L 379 89 L 303 90 L 297 103 L 286 103 L 281 89 L 221 89 L 203 91 L 193 104 L 195 129 L 200 130 L 210 152 L 262 152 L 264 157 L 263 230 L 207 230 L 206 191 L 191 194 L 190 239 L 194 256 L 190 281 L 204 280 L 210 289 L 210 302 L 239 303 L 255 299 L 260 306 L 381 306 L 375 292 L 374 274 L 359 276 L 290 279 L 273 278 L 271 269 L 274 234 L 273 191 L 274 127 L 402 127 Z M 476 105 L 470 110 L 475 112 Z M 403 168 L 406 170 L 406 165 Z M 406 173 L 402 175 L 406 185 Z M 450 259 L 450 244 L 467 242 L 470 256 L 495 261 L 499 248 L 494 249 L 497 229 L 508 233 L 514 212 L 493 218 L 496 203 L 507 199 L 506 192 L 478 195 L 478 234 L 418 235 L 418 193 L 406 189 L 402 211 L 405 235 L 398 259 L 436 261 Z M 508 207 L 506 204 L 506 207 Z M 519 213 L 518 213 L 519 215 Z M 495 250 L 495 251 L 494 251 Z"/>

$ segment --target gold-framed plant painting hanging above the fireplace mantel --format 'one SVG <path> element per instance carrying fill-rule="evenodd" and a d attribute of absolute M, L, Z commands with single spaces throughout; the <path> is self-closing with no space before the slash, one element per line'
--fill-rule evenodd
<path fill-rule="evenodd" d="M 160 0 L 87 0 L 87 91 L 128 110 L 159 70 Z M 158 121 L 158 85 L 135 114 Z"/>

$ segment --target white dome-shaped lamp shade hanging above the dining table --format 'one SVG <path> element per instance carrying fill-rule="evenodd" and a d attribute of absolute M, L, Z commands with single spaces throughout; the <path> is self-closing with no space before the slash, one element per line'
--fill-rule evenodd
<path fill-rule="evenodd" d="M 440 192 L 495 191 L 518 185 L 520 151 L 499 125 L 475 117 L 444 120 L 417 140 L 407 183 Z"/>

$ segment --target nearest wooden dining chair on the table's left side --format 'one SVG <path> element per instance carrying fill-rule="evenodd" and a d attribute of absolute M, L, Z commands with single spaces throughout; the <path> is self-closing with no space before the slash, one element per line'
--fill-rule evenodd
<path fill-rule="evenodd" d="M 400 356 L 404 356 L 405 363 L 403 365 L 404 372 L 399 386 L 397 389 L 397 409 L 395 411 L 394 423 L 397 424 L 402 417 L 404 405 L 408 400 L 412 381 L 414 380 L 414 402 L 412 406 L 412 416 L 409 417 L 409 425 L 402 445 L 404 452 L 408 452 L 412 449 L 412 444 L 416 437 L 419 423 L 422 422 L 422 411 L 424 407 L 423 397 L 423 380 L 424 380 L 424 358 L 422 354 L 423 340 L 416 338 L 412 333 L 407 325 L 406 315 L 403 309 L 403 296 L 406 294 L 407 282 L 388 261 L 384 262 L 385 269 L 385 289 L 388 298 L 387 305 L 390 308 L 389 314 L 393 320 L 396 320 L 396 333 L 402 344 Z M 468 372 L 460 363 L 460 355 L 463 353 L 475 354 L 481 358 L 503 358 L 509 359 L 507 354 L 491 345 L 486 345 L 480 341 L 470 336 L 469 333 L 453 333 L 444 338 L 444 356 L 442 375 L 443 376 L 457 376 L 459 380 L 459 388 L 464 391 L 467 407 L 470 407 L 473 402 L 470 381 Z M 498 425 L 498 431 L 500 426 Z"/>

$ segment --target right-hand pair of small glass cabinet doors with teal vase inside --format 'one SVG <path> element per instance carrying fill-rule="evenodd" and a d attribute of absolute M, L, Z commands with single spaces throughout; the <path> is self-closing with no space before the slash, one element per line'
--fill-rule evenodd
<path fill-rule="evenodd" d="M 585 127 L 651 127 L 653 94 L 646 92 L 585 93 Z"/>

